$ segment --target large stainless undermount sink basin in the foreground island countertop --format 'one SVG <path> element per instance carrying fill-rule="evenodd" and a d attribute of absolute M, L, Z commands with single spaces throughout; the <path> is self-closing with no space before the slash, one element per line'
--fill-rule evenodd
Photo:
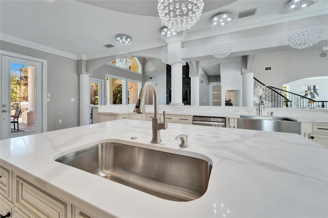
<path fill-rule="evenodd" d="M 202 159 L 121 143 L 102 143 L 57 158 L 63 164 L 172 201 L 207 190 L 212 165 Z"/>

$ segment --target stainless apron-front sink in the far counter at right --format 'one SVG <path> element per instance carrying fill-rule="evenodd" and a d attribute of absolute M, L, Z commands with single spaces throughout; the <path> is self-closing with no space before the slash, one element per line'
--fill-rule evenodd
<path fill-rule="evenodd" d="M 301 134 L 301 123 L 284 117 L 241 115 L 237 128 Z"/>

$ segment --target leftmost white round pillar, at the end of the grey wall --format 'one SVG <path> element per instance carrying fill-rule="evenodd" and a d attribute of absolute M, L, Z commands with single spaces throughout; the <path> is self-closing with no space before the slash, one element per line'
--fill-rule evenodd
<path fill-rule="evenodd" d="M 90 124 L 90 81 L 89 74 L 79 74 L 79 120 L 80 126 Z"/>

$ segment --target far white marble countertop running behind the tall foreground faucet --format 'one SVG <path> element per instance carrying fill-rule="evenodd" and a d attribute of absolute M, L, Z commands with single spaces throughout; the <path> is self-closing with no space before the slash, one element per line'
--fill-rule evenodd
<path fill-rule="evenodd" d="M 133 113 L 133 104 L 130 105 L 99 105 L 98 113 L 127 114 Z M 145 105 L 146 113 L 154 113 L 153 105 Z M 240 118 L 240 115 L 259 116 L 257 107 L 236 107 L 236 106 L 171 106 L 159 105 L 158 113 L 166 111 L 167 114 L 190 115 L 190 116 L 210 116 Z M 289 118 L 298 122 L 328 123 L 328 110 L 326 109 L 296 109 L 296 108 L 272 108 L 268 107 L 262 111 L 261 116 Z"/>

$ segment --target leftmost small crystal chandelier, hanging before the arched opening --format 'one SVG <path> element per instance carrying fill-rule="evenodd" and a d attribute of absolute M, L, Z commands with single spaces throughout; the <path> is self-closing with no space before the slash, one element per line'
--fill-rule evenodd
<path fill-rule="evenodd" d="M 127 69 L 131 66 L 131 56 L 127 52 L 130 49 L 132 39 L 128 35 L 119 34 L 115 36 L 116 46 L 121 51 L 116 56 L 116 66 Z"/>

